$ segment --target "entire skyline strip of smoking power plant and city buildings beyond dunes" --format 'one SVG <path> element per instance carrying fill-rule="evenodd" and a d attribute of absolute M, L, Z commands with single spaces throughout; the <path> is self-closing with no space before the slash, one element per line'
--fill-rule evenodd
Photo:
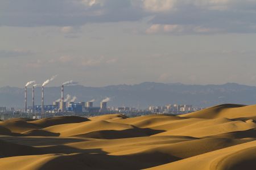
<path fill-rule="evenodd" d="M 199 111 L 203 109 L 203 108 L 195 108 L 193 107 L 193 105 L 188 105 L 188 104 L 181 104 L 181 105 L 167 104 L 163 106 L 150 105 L 147 109 L 141 109 L 139 105 L 138 107 L 126 107 L 125 104 L 123 104 L 122 107 L 119 107 L 119 106 L 108 107 L 110 97 L 105 97 L 105 99 L 103 100 L 101 99 L 100 105 L 95 106 L 94 105 L 94 103 L 96 103 L 95 99 L 92 99 L 89 101 L 77 101 L 76 96 L 65 94 L 65 87 L 78 84 L 77 82 L 73 82 L 73 80 L 70 80 L 68 82 L 61 84 L 61 86 L 59 87 L 60 95 L 56 97 L 57 100 L 53 101 L 51 104 L 49 104 L 49 102 L 46 102 L 47 105 L 45 105 L 44 91 L 48 90 L 48 88 L 45 89 L 45 87 L 50 82 L 52 82 L 52 80 L 54 80 L 55 78 L 56 78 L 56 75 L 52 76 L 52 78 L 50 79 L 47 79 L 42 84 L 36 84 L 35 80 L 27 82 L 24 87 L 24 93 L 25 93 L 24 108 L 15 109 L 15 108 L 0 107 L 1 119 L 4 120 L 5 118 L 13 118 L 13 117 L 27 117 L 27 118 L 40 119 L 40 118 L 46 118 L 46 117 L 73 116 L 73 115 L 90 117 L 90 116 L 97 116 L 100 114 L 112 114 L 112 113 L 122 113 L 122 114 L 126 114 L 126 116 L 134 117 L 134 116 L 146 115 L 146 114 L 184 114 L 184 113 Z M 35 87 L 40 87 L 40 88 L 37 88 L 37 91 L 35 91 Z M 27 101 L 27 92 L 30 90 L 32 90 L 31 105 L 28 104 L 30 102 Z M 42 94 L 40 94 L 39 91 L 40 93 L 42 92 Z M 38 94 L 36 94 L 36 92 Z M 36 96 L 41 96 L 41 103 L 38 105 L 35 104 Z M 30 97 L 28 98 L 30 99 Z M 97 99 L 97 101 L 99 101 L 99 99 Z"/>

